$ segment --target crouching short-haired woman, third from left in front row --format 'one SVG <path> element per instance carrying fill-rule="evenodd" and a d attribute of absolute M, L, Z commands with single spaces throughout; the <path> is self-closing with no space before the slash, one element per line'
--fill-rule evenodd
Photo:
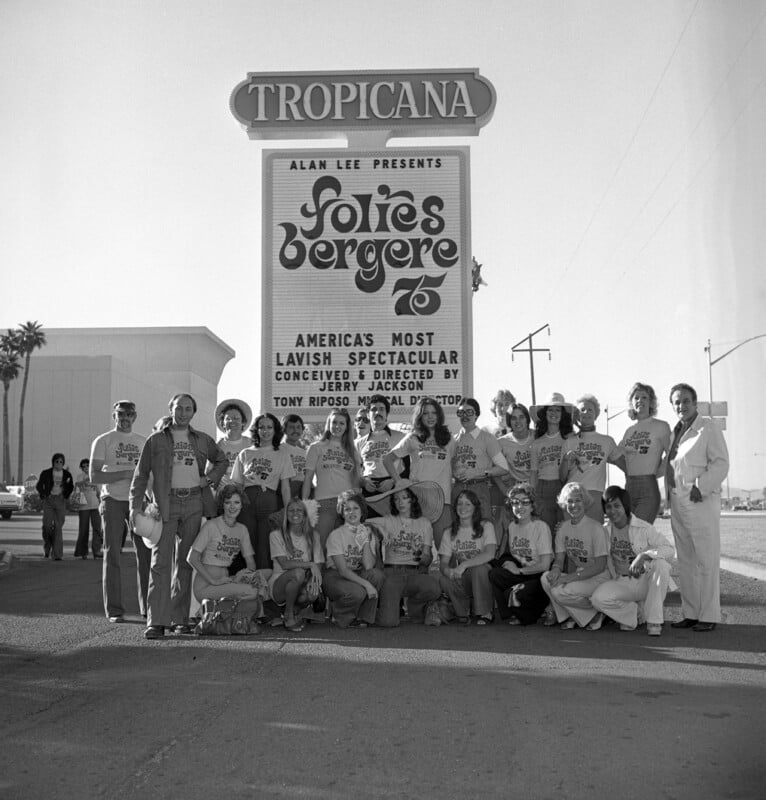
<path fill-rule="evenodd" d="M 344 524 L 327 537 L 325 595 L 333 603 L 333 621 L 339 628 L 366 628 L 375 622 L 383 571 L 375 567 L 372 532 L 364 525 L 367 503 L 358 490 L 338 496 Z"/>

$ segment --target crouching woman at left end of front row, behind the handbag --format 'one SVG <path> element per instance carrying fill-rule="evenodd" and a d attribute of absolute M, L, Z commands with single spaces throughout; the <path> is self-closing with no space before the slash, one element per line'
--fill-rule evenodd
<path fill-rule="evenodd" d="M 255 570 L 255 554 L 247 528 L 237 517 L 242 510 L 242 491 L 227 484 L 218 493 L 219 515 L 208 520 L 189 550 L 187 561 L 194 569 L 192 591 L 203 600 L 221 597 L 258 597 L 259 590 L 250 583 L 237 583 L 229 575 L 229 566 L 242 553 L 248 569 Z"/>

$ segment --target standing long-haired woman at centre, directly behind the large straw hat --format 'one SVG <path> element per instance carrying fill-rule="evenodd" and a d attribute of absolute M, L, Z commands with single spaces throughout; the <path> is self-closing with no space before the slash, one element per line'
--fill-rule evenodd
<path fill-rule="evenodd" d="M 397 459 L 410 457 L 410 479 L 415 482 L 433 482 L 441 486 L 445 501 L 452 493 L 452 457 L 455 440 L 444 419 L 444 409 L 433 397 L 421 397 L 412 412 L 412 432 L 386 456 L 383 465 L 397 483 Z M 445 502 L 442 515 L 433 523 L 434 544 L 438 548 L 444 531 L 449 528 L 452 514 Z"/>

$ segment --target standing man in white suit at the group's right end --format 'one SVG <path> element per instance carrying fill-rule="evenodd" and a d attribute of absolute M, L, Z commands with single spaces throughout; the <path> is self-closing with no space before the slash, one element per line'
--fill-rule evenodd
<path fill-rule="evenodd" d="M 697 392 L 691 386 L 677 383 L 670 404 L 678 424 L 665 486 L 684 615 L 672 627 L 712 631 L 721 619 L 721 483 L 729 471 L 729 452 L 718 425 L 697 413 Z"/>

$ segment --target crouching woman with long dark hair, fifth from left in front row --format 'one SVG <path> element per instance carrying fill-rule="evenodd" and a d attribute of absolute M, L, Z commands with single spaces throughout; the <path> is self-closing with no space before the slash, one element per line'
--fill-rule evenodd
<path fill-rule="evenodd" d="M 439 585 L 449 597 L 458 622 L 468 624 L 473 614 L 477 625 L 492 622 L 494 598 L 489 584 L 489 562 L 495 557 L 495 528 L 481 517 L 481 503 L 470 489 L 455 498 L 449 536 L 439 546 Z"/>

